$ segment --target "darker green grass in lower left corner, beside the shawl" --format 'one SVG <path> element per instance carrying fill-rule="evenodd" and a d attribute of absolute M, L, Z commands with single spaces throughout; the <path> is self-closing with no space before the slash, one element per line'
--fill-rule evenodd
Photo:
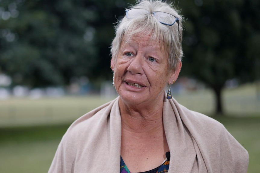
<path fill-rule="evenodd" d="M 66 125 L 0 128 L 0 172 L 47 172 Z"/>

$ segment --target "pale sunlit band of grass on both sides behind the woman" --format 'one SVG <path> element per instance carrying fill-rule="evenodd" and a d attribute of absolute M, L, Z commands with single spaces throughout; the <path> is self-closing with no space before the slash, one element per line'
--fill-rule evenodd
<path fill-rule="evenodd" d="M 173 92 L 173 97 L 182 105 L 211 116 L 215 109 L 211 90 Z M 85 113 L 112 100 L 114 97 L 42 97 L 10 98 L 0 101 L 0 127 L 71 123 Z M 225 90 L 223 107 L 227 115 L 260 116 L 260 99 L 252 87 L 240 90 Z"/>

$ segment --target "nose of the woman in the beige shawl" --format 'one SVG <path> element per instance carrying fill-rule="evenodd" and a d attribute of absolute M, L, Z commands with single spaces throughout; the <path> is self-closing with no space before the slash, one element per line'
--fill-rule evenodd
<path fill-rule="evenodd" d="M 132 74 L 142 74 L 143 73 L 142 61 L 143 61 L 143 56 L 136 55 L 135 57 L 132 58 L 132 60 L 130 60 L 130 64 L 127 70 Z"/>

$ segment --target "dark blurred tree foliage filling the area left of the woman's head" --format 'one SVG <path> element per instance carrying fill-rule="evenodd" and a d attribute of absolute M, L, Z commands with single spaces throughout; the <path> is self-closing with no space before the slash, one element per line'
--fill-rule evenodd
<path fill-rule="evenodd" d="M 0 1 L 0 69 L 13 85 L 65 85 L 72 77 L 110 79 L 113 23 L 123 0 Z"/>

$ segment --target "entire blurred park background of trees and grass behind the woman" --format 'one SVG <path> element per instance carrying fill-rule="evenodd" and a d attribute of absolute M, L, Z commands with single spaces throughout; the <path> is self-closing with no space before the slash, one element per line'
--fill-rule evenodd
<path fill-rule="evenodd" d="M 168 1 L 171 2 L 171 1 Z M 0 0 L 0 172 L 47 172 L 68 126 L 117 97 L 110 44 L 133 0 Z M 173 97 L 225 125 L 260 172 L 260 1 L 179 0 Z"/>

